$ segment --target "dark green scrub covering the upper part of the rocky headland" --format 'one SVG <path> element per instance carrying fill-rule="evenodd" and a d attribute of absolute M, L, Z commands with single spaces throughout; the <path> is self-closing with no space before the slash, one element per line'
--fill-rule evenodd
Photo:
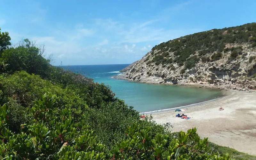
<path fill-rule="evenodd" d="M 174 62 L 180 67 L 183 66 L 183 71 L 185 71 L 194 67 L 200 59 L 203 62 L 219 60 L 223 52 L 230 51 L 229 61 L 235 60 L 238 55 L 242 54 L 242 48 L 233 51 L 234 48 L 225 48 L 225 44 L 242 43 L 249 43 L 250 47 L 256 46 L 256 23 L 212 29 L 161 43 L 152 48 L 145 62 L 147 61 L 147 65 L 155 63 L 164 66 L 170 66 Z M 174 56 L 171 56 L 171 53 Z"/>

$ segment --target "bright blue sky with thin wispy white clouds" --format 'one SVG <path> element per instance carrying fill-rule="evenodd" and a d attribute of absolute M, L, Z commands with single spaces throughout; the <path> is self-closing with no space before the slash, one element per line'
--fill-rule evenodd
<path fill-rule="evenodd" d="M 46 46 L 54 65 L 126 64 L 161 42 L 256 21 L 255 0 L 8 0 L 0 28 L 12 43 Z"/>

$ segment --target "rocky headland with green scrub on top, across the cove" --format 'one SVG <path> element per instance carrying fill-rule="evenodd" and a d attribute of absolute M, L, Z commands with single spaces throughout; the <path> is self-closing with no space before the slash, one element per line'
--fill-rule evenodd
<path fill-rule="evenodd" d="M 155 84 L 256 89 L 256 23 L 161 43 L 120 79 Z"/>

